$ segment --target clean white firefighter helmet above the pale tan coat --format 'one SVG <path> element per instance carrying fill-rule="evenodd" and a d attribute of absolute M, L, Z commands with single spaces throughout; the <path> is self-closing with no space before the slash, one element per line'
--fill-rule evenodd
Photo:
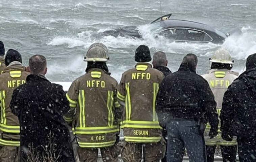
<path fill-rule="evenodd" d="M 232 60 L 230 53 L 223 48 L 220 48 L 219 50 L 214 52 L 213 56 L 210 58 L 210 62 L 221 64 L 234 64 L 234 60 Z"/>

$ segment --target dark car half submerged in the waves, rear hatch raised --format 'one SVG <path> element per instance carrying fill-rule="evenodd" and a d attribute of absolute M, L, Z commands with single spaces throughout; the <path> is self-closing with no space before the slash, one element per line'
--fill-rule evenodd
<path fill-rule="evenodd" d="M 170 19 L 172 13 L 163 15 L 157 18 L 150 24 L 150 31 L 156 34 L 155 37 L 164 36 L 172 41 L 181 42 L 212 42 L 221 44 L 225 41 L 229 34 L 224 34 L 221 31 L 214 29 L 206 24 Z M 115 37 L 125 36 L 131 38 L 143 38 L 137 27 L 121 27 L 109 31 L 104 34 Z"/>

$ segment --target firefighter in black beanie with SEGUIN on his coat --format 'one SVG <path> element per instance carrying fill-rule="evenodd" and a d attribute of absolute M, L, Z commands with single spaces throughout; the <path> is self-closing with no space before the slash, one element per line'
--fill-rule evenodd
<path fill-rule="evenodd" d="M 124 133 L 124 162 L 159 162 L 164 157 L 165 143 L 155 111 L 158 87 L 164 75 L 153 69 L 148 46 L 140 45 L 135 52 L 135 68 L 122 74 L 118 99 L 125 105 L 121 128 Z"/>

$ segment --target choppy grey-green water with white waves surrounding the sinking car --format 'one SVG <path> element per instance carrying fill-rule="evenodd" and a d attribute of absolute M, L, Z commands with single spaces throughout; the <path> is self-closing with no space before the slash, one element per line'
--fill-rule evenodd
<path fill-rule="evenodd" d="M 222 46 L 235 59 L 234 69 L 242 71 L 245 58 L 256 53 L 255 0 L 161 0 L 162 14 L 211 25 L 224 33 L 239 28 L 243 35 L 229 38 Z M 0 40 L 16 48 L 26 65 L 34 54 L 48 59 L 47 77 L 52 81 L 72 81 L 84 73 L 83 55 L 94 42 L 107 45 L 109 69 L 118 80 L 133 67 L 134 51 L 140 44 L 168 55 L 169 67 L 176 71 L 187 53 L 199 56 L 198 73 L 209 69 L 209 57 L 219 45 L 175 43 L 156 40 L 147 32 L 152 20 L 161 15 L 158 0 L 0 0 Z M 115 27 L 139 26 L 145 40 L 100 33 Z"/>

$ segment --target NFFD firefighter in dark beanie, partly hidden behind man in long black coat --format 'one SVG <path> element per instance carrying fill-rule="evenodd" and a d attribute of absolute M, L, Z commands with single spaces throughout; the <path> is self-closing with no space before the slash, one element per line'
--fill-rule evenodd
<path fill-rule="evenodd" d="M 5 56 L 6 68 L 0 75 L 0 161 L 17 162 L 20 146 L 20 124 L 10 109 L 11 96 L 15 88 L 26 82 L 29 74 L 22 66 L 21 54 L 9 49 Z"/>

